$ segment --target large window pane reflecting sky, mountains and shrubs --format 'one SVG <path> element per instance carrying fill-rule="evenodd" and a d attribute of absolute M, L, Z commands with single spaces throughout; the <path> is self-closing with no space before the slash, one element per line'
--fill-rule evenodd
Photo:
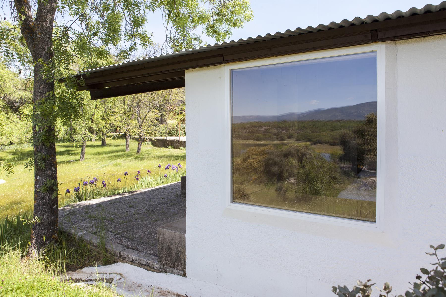
<path fill-rule="evenodd" d="M 232 69 L 232 202 L 375 222 L 376 73 L 376 52 Z"/>

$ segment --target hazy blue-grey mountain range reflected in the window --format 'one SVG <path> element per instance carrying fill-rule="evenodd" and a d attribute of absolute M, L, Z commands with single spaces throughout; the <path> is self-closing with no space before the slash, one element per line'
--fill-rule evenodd
<path fill-rule="evenodd" d="M 243 122 L 363 120 L 365 115 L 370 113 L 376 113 L 376 101 L 278 115 L 240 115 L 232 118 L 235 124 Z"/>

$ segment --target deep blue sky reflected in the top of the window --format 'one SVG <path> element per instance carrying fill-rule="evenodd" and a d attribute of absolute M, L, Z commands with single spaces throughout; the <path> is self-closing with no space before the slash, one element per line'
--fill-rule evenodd
<path fill-rule="evenodd" d="M 376 101 L 376 52 L 232 71 L 233 115 L 278 115 Z"/>

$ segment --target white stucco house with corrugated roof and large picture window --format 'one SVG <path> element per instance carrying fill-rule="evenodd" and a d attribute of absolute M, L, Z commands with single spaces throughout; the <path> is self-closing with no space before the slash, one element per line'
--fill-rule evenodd
<path fill-rule="evenodd" d="M 188 278 L 404 294 L 446 241 L 445 33 L 442 2 L 92 69 L 79 90 L 186 87 Z"/>

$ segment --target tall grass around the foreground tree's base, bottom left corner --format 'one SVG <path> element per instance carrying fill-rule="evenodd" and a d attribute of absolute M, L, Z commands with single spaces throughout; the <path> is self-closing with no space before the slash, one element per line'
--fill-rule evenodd
<path fill-rule="evenodd" d="M 37 259 L 27 257 L 32 223 L 16 216 L 0 224 L 0 296 L 116 296 L 103 285 L 79 287 L 61 281 L 68 270 L 113 260 L 104 256 L 105 249 L 93 248 L 87 241 L 61 232 Z"/>

